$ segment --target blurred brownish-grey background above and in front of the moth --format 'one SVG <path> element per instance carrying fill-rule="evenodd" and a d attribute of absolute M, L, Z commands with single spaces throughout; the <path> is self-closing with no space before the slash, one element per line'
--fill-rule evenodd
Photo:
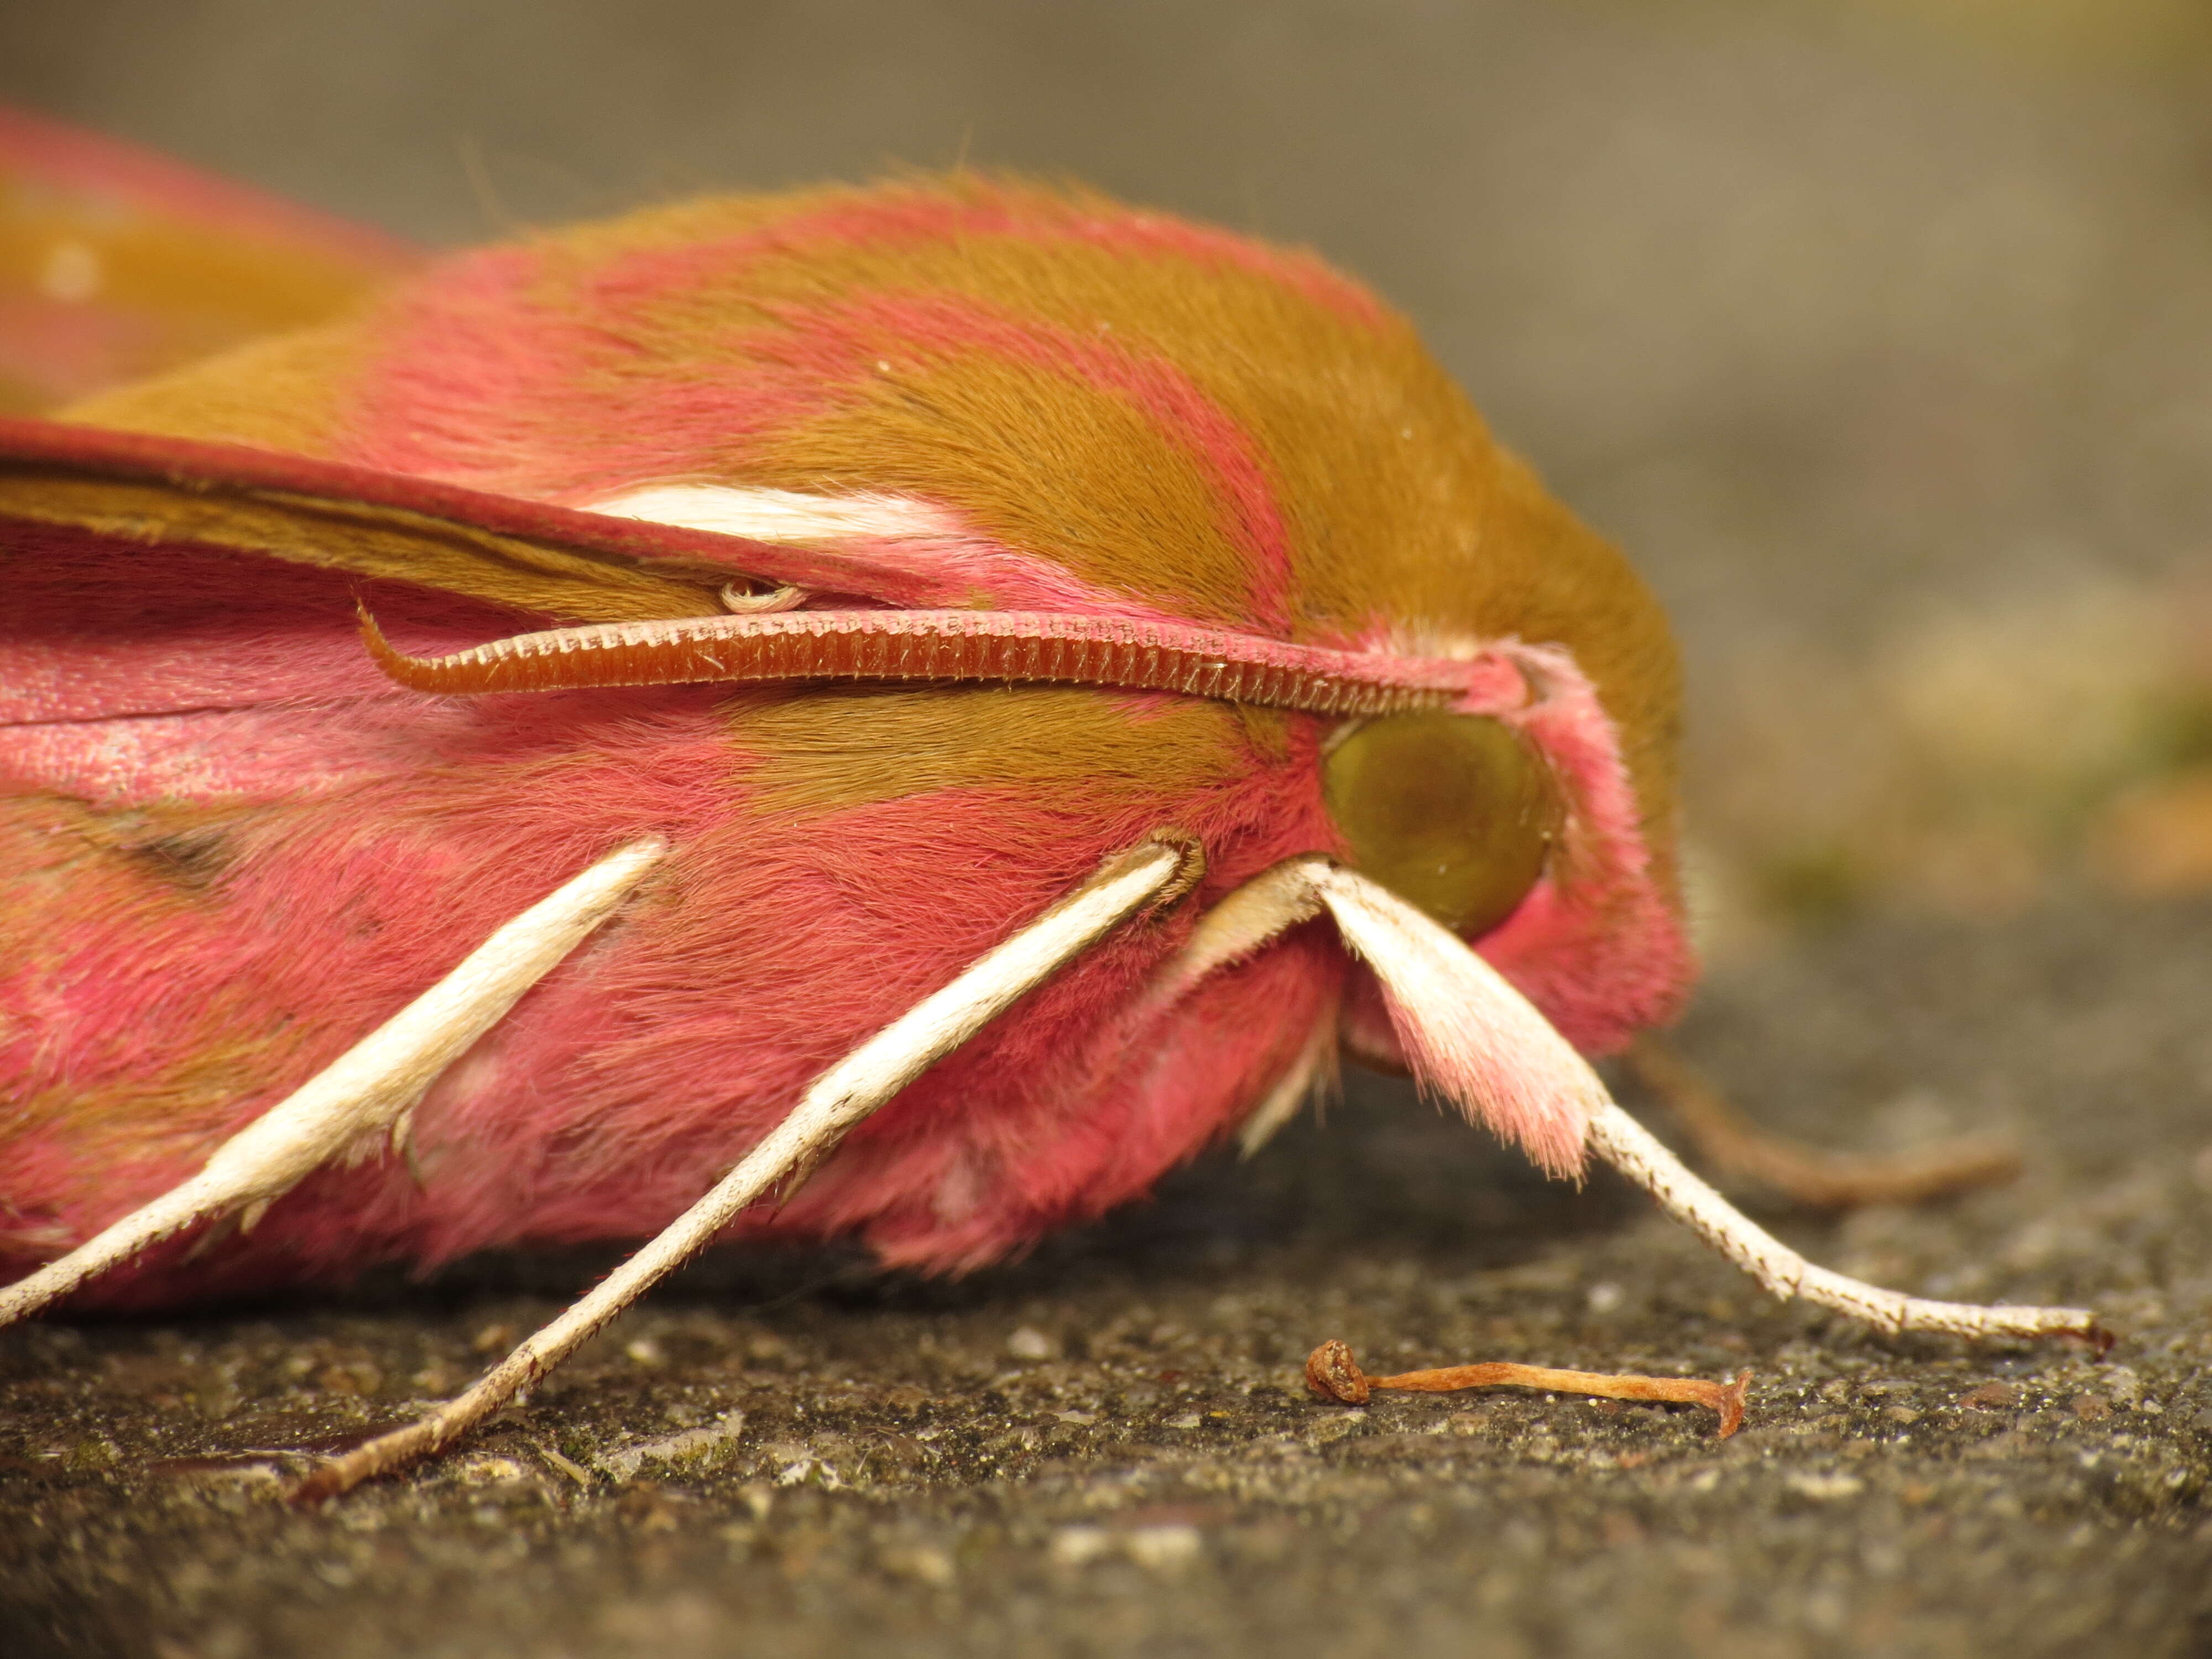
<path fill-rule="evenodd" d="M 429 243 L 956 161 L 1310 243 L 1672 608 L 1719 964 L 2212 889 L 2203 0 L 18 0 L 0 97 Z"/>

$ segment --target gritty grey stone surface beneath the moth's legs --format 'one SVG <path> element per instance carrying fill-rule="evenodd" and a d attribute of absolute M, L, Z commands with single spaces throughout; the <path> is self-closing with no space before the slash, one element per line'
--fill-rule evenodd
<path fill-rule="evenodd" d="M 708 1261 L 445 1462 L 316 1513 L 281 1502 L 307 1453 L 465 1383 L 593 1263 L 9 1334 L 0 1650 L 2201 1652 L 2208 925 L 1876 922 L 1723 973 L 1686 1029 L 1774 1126 L 2015 1135 L 2011 1188 L 1767 1219 L 1885 1283 L 2088 1301 L 2101 1363 L 1781 1307 L 1610 1177 L 1544 1183 L 1356 1079 L 964 1283 Z M 1349 1411 L 1298 1385 L 1327 1336 L 1750 1367 L 1752 1413 L 1721 1442 L 1509 1391 Z"/>

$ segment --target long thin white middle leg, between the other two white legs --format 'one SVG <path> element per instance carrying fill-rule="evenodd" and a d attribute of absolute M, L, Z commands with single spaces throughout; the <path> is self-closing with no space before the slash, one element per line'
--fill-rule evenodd
<path fill-rule="evenodd" d="M 566 1314 L 500 1360 L 476 1387 L 405 1429 L 323 1464 L 299 1484 L 294 1502 L 336 1498 L 363 1480 L 442 1451 L 515 1394 L 533 1387 L 606 1321 L 706 1248 L 741 1210 L 772 1188 L 790 1194 L 847 1130 L 973 1037 L 1020 995 L 1048 980 L 1135 911 L 1175 898 L 1188 885 L 1194 858 L 1192 845 L 1170 841 L 1150 841 L 1108 858 L 1068 898 L 816 1077 L 790 1117 L 776 1124 L 699 1203 L 593 1285 Z"/>

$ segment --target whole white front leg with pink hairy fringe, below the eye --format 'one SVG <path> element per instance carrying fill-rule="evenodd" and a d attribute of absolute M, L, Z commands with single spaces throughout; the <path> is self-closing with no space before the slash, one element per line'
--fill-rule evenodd
<path fill-rule="evenodd" d="M 1329 911 L 1347 945 L 1374 967 L 1400 1042 L 1425 1062 L 1431 1086 L 1502 1126 L 1522 1121 L 1531 1104 L 1577 1121 L 1582 1146 L 1776 1296 L 1803 1296 L 1887 1332 L 2104 1338 L 2095 1314 L 2084 1307 L 1936 1303 L 1807 1263 L 1624 1113 L 1566 1037 L 1464 940 L 1389 889 L 1325 858 L 1276 865 L 1221 900 L 1192 933 L 1192 945 L 1164 969 L 1159 984 L 1179 995 L 1203 973 L 1243 960 L 1272 933 L 1296 927 L 1318 909 Z M 1489 1064 L 1471 1053 L 1484 1044 L 1498 1048 Z M 1522 1093 L 1515 1079 L 1528 1077 L 1544 1079 L 1548 1102 L 1515 1097 Z M 1520 1133 L 1526 1139 L 1526 1130 Z"/>

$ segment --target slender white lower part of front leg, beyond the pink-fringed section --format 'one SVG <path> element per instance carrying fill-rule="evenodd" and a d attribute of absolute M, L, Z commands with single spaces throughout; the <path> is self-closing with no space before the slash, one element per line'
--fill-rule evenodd
<path fill-rule="evenodd" d="M 1803 1296 L 1887 1332 L 1953 1332 L 1955 1336 L 2081 1336 L 2106 1343 L 2086 1307 L 1980 1307 L 1905 1296 L 1827 1267 L 1816 1267 L 1697 1179 L 1679 1157 L 1610 1099 L 1590 1117 L 1588 1146 L 1641 1186 L 1677 1221 L 1743 1267 L 1776 1296 Z"/>

